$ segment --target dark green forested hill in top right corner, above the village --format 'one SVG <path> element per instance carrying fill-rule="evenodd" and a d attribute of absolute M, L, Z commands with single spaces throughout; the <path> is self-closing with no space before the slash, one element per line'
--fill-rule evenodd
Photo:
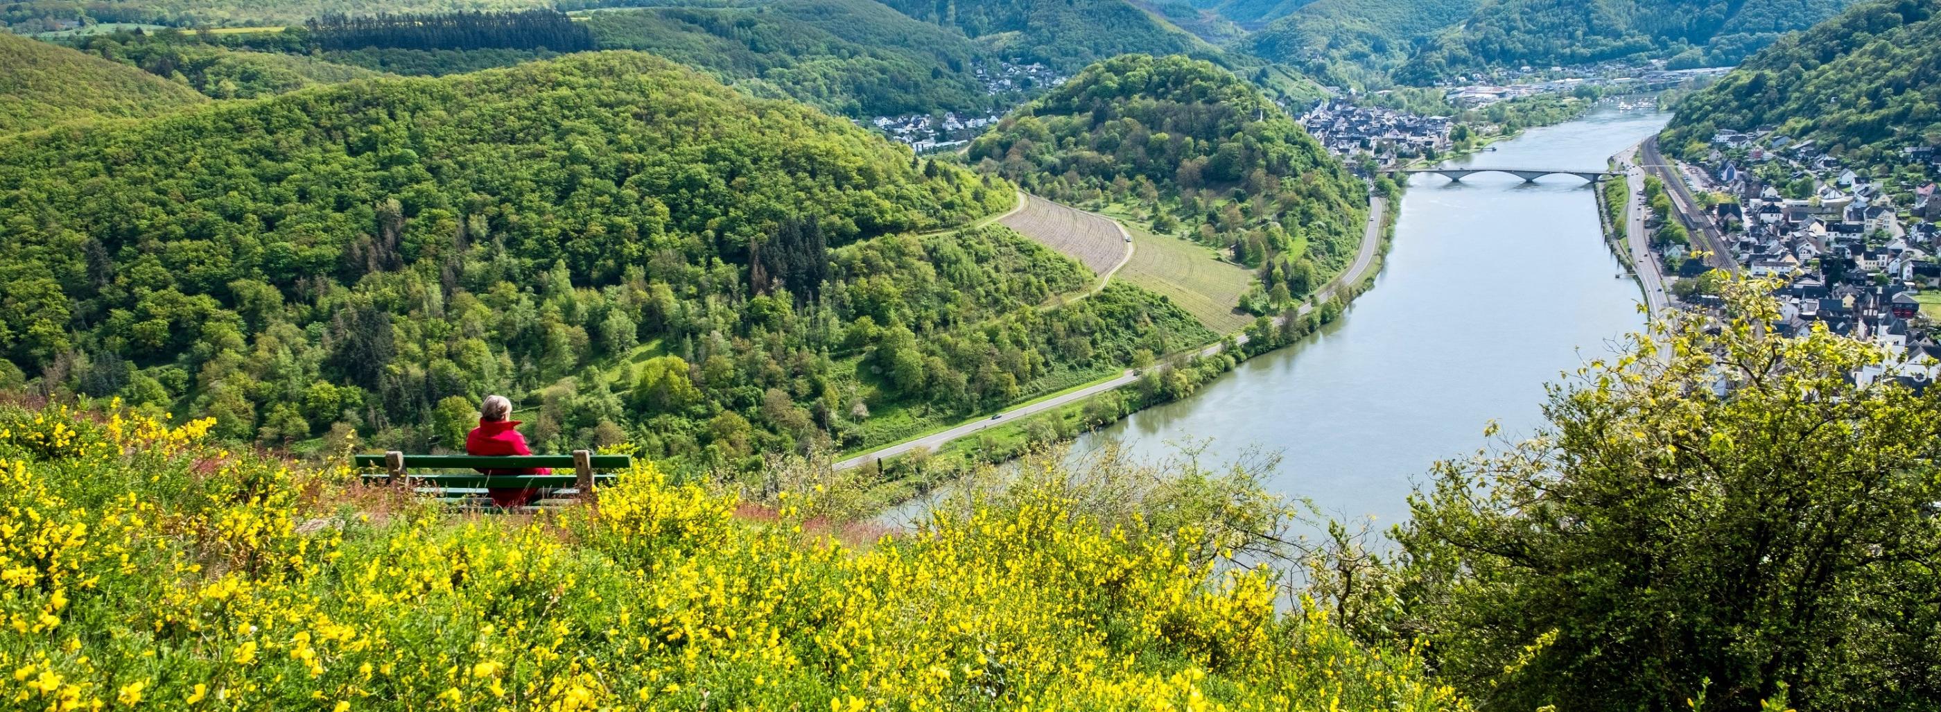
<path fill-rule="evenodd" d="M 1778 126 L 1850 165 L 1941 142 L 1941 2 L 1854 6 L 1753 54 L 1677 105 L 1661 144 L 1706 144 L 1720 128 Z"/>

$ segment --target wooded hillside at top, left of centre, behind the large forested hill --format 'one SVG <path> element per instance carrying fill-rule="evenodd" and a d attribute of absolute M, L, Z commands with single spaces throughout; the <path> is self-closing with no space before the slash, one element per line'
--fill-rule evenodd
<path fill-rule="evenodd" d="M 586 27 L 602 49 L 660 54 L 846 116 L 970 113 L 994 99 L 972 74 L 996 68 L 990 52 L 872 0 L 594 12 Z"/>

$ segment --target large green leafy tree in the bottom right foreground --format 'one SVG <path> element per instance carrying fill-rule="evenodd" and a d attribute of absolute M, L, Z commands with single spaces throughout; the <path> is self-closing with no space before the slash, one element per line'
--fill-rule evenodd
<path fill-rule="evenodd" d="M 1760 285 L 1553 386 L 1533 440 L 1436 466 L 1398 530 L 1413 631 L 1489 706 L 1931 708 L 1941 390 L 1782 338 Z"/>

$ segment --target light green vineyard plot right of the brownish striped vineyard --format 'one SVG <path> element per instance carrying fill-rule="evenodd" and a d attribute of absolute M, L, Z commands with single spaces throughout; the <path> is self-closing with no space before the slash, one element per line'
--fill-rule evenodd
<path fill-rule="evenodd" d="M 1254 318 L 1236 310 L 1254 274 L 1219 260 L 1213 248 L 1132 229 L 1139 248 L 1118 277 L 1172 299 L 1207 328 L 1227 334 Z"/>

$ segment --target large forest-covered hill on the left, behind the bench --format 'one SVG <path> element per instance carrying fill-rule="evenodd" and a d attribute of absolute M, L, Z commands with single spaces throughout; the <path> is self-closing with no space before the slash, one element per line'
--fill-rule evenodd
<path fill-rule="evenodd" d="M 25 134 L 0 182 L 0 380 L 231 438 L 450 446 L 505 392 L 542 444 L 720 464 L 1211 338 L 1130 289 L 1040 312 L 1075 264 L 897 237 L 1009 186 L 633 52 Z"/>

